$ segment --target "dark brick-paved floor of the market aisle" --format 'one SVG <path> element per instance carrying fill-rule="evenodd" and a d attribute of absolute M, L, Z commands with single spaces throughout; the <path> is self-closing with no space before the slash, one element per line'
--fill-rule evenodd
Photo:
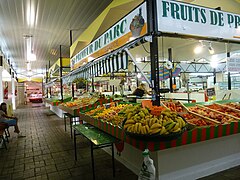
<path fill-rule="evenodd" d="M 90 145 L 78 139 L 78 157 L 74 161 L 73 141 L 64 131 L 63 120 L 41 104 L 23 106 L 16 111 L 26 138 L 18 139 L 10 128 L 8 150 L 0 150 L 0 180 L 4 179 L 92 179 Z M 111 156 L 94 150 L 96 179 L 113 179 Z M 116 178 L 134 180 L 137 176 L 116 161 Z"/>

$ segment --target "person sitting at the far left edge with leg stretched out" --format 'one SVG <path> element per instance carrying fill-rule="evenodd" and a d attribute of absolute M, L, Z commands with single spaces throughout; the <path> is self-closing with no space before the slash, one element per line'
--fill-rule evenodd
<path fill-rule="evenodd" d="M 18 128 L 18 118 L 7 115 L 7 104 L 5 102 L 0 105 L 0 122 L 7 123 L 8 126 L 14 126 L 14 132 L 18 134 L 18 137 L 26 137 L 20 133 Z"/>

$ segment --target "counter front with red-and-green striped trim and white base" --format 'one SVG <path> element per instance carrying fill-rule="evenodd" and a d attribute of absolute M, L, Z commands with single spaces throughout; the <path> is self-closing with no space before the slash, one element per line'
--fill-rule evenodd
<path fill-rule="evenodd" d="M 131 137 L 120 126 L 83 113 L 79 117 L 122 140 L 124 150 L 117 159 L 136 174 L 146 148 L 151 151 L 158 179 L 196 179 L 240 164 L 240 122 L 194 128 L 177 139 L 164 141 Z"/>

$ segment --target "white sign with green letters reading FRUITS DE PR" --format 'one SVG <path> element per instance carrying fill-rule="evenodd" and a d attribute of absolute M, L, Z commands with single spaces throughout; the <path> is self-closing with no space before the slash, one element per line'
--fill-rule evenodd
<path fill-rule="evenodd" d="M 185 4 L 157 1 L 158 31 L 240 41 L 240 15 Z"/>

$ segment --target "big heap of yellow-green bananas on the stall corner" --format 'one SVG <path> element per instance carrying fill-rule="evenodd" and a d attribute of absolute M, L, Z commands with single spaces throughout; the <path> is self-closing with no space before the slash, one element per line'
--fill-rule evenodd
<path fill-rule="evenodd" d="M 134 108 L 128 111 L 124 130 L 140 135 L 170 135 L 179 133 L 186 122 L 176 112 L 163 110 L 160 116 L 151 115 L 146 108 Z"/>

